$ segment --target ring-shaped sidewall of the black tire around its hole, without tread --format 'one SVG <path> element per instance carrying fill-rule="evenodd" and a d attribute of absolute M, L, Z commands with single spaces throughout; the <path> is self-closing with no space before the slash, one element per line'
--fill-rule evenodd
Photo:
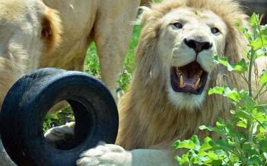
<path fill-rule="evenodd" d="M 119 124 L 117 105 L 102 82 L 78 71 L 60 71 L 53 77 L 44 77 L 49 79 L 42 79 L 42 84 L 36 81 L 24 93 L 21 100 L 24 107 L 17 115 L 16 131 L 24 158 L 32 160 L 34 165 L 75 165 L 78 156 L 100 140 L 115 142 Z M 42 133 L 47 111 L 62 100 L 75 100 L 89 108 L 93 124 L 87 138 L 78 147 L 68 150 L 55 149 Z"/>

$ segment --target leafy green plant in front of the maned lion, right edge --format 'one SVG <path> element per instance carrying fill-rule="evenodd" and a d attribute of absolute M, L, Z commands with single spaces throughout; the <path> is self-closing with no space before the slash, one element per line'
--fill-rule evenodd
<path fill-rule="evenodd" d="M 235 111 L 230 111 L 233 118 L 228 122 L 218 118 L 215 127 L 204 125 L 199 127 L 201 130 L 207 129 L 219 133 L 221 137 L 216 141 L 207 137 L 202 143 L 198 140 L 198 136 L 192 136 L 182 142 L 176 141 L 173 144 L 175 149 L 189 149 L 187 154 L 175 157 L 180 165 L 267 165 L 267 107 L 259 100 L 259 96 L 267 91 L 267 71 L 264 70 L 259 78 L 261 88 L 257 94 L 253 95 L 251 90 L 251 72 L 255 59 L 266 56 L 267 53 L 267 25 L 260 26 L 259 16 L 253 14 L 250 26 L 252 33 L 248 32 L 248 28 L 236 24 L 250 42 L 248 46 L 251 49 L 246 52 L 249 62 L 241 59 L 238 64 L 229 64 L 227 57 L 221 59 L 218 56 L 213 57 L 214 62 L 223 64 L 228 71 L 239 73 L 248 84 L 249 91 L 231 90 L 227 84 L 209 90 L 209 95 L 216 93 L 231 99 L 229 102 L 236 107 Z M 246 77 L 245 73 L 248 73 L 249 77 Z M 239 132 L 236 126 L 243 128 L 245 132 Z"/>

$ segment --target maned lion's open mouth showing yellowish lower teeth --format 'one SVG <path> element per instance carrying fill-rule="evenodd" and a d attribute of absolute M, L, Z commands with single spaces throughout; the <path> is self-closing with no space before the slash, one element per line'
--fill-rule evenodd
<path fill-rule="evenodd" d="M 171 87 L 173 91 L 200 95 L 206 82 L 207 72 L 196 61 L 181 67 L 171 67 Z"/>

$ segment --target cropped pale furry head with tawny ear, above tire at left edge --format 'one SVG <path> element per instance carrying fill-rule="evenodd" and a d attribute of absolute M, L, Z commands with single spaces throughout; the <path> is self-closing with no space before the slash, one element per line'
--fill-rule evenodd
<path fill-rule="evenodd" d="M 1 1 L 0 108 L 12 84 L 60 44 L 60 23 L 58 12 L 42 1 Z"/>

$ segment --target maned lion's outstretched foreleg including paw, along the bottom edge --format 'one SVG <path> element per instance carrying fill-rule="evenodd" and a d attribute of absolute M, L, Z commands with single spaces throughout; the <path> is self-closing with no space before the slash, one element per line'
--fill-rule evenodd
<path fill-rule="evenodd" d="M 126 151 L 118 145 L 100 143 L 80 155 L 78 166 L 88 165 L 178 165 L 175 153 L 166 149 L 134 149 Z"/>

